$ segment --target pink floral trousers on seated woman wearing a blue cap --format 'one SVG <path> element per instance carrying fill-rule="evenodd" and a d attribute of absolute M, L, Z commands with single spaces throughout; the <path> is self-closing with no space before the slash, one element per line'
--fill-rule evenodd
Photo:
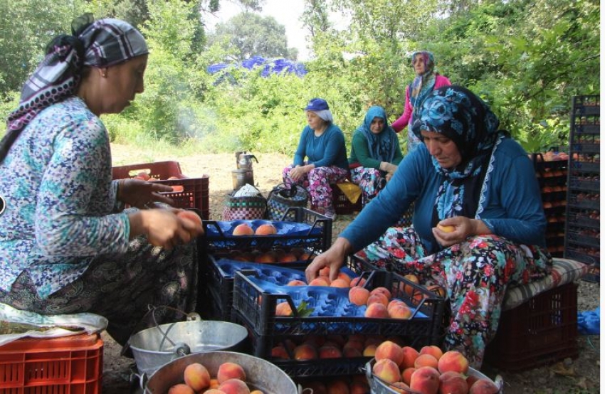
<path fill-rule="evenodd" d="M 290 178 L 290 171 L 294 168 L 292 164 L 283 169 L 283 183 L 290 186 L 294 183 L 304 187 L 309 192 L 311 206 L 320 207 L 325 210 L 333 210 L 332 186 L 335 183 L 347 179 L 349 170 L 337 166 L 316 167 L 302 176 L 298 182 Z"/>

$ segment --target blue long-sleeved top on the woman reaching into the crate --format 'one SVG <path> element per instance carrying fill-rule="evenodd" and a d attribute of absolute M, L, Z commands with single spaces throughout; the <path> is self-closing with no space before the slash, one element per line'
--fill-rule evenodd
<path fill-rule="evenodd" d="M 497 145 L 485 175 L 475 218 L 495 235 L 514 243 L 545 247 L 546 217 L 532 162 L 513 139 Z M 436 193 L 441 185 L 426 146 L 408 154 L 372 203 L 340 234 L 355 251 L 377 240 L 414 203 L 414 230 L 429 254 L 439 250 L 431 228 Z"/>

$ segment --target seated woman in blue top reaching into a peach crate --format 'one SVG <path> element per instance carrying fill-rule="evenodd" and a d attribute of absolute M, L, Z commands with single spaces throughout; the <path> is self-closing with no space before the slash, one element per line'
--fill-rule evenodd
<path fill-rule="evenodd" d="M 480 368 L 507 286 L 547 275 L 546 218 L 533 164 L 473 92 L 441 87 L 424 100 L 422 139 L 393 178 L 307 268 L 307 278 L 359 252 L 377 267 L 438 284 L 451 303 L 444 346 Z M 414 202 L 414 225 L 389 228 Z M 385 232 L 386 231 L 386 232 Z"/>

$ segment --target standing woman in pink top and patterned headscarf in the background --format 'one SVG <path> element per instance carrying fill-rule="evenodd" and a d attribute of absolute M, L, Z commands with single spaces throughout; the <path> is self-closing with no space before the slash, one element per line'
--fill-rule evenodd
<path fill-rule="evenodd" d="M 411 130 L 411 125 L 414 123 L 414 117 L 418 115 L 423 100 L 433 90 L 451 85 L 448 78 L 439 75 L 435 71 L 435 60 L 432 53 L 426 50 L 414 52 L 411 57 L 411 65 L 414 67 L 416 78 L 406 88 L 404 113 L 391 124 L 391 127 L 398 133 L 409 125 L 408 151 L 411 151 L 420 144 L 420 140 Z"/>

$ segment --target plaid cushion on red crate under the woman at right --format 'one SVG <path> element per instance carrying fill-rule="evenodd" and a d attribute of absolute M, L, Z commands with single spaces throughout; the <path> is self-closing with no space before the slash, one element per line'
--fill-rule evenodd
<path fill-rule="evenodd" d="M 509 287 L 504 297 L 503 310 L 513 309 L 530 298 L 554 287 L 574 282 L 586 275 L 589 266 L 583 262 L 569 259 L 553 258 L 552 272 L 536 282 L 521 286 Z"/>

